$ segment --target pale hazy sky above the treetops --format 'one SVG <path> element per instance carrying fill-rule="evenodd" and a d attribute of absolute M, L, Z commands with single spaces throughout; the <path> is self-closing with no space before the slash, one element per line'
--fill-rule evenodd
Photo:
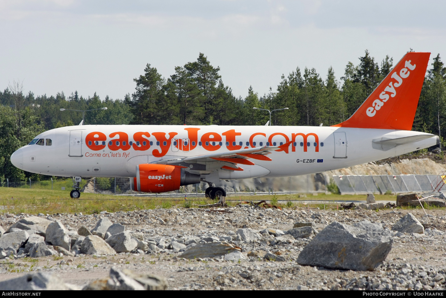
<path fill-rule="evenodd" d="M 168 78 L 204 53 L 235 96 L 276 90 L 282 73 L 322 78 L 368 49 L 445 56 L 444 1 L 0 0 L 0 89 L 124 98 L 146 63 Z M 445 56 L 446 61 L 446 56 Z"/>

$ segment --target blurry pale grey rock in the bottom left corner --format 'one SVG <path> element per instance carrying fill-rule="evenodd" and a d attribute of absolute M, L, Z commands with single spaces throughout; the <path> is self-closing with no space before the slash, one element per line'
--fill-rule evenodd
<path fill-rule="evenodd" d="M 48 272 L 33 272 L 0 282 L 1 290 L 68 290 L 61 278 Z"/>

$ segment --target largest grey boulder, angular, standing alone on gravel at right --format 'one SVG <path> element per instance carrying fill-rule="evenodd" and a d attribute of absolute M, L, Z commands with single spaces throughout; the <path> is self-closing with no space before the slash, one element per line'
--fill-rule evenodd
<path fill-rule="evenodd" d="M 328 269 L 374 270 L 392 249 L 388 229 L 370 221 L 353 225 L 333 222 L 318 233 L 297 257 L 300 265 Z"/>

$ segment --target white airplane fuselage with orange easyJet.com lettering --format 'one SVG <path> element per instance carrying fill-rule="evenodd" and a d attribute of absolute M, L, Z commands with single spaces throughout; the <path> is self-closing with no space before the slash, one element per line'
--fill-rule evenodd
<path fill-rule="evenodd" d="M 99 134 L 91 135 L 95 132 L 102 133 L 106 139 L 101 139 Z M 114 134 L 116 132 L 120 134 Z M 137 140 L 134 136 L 138 132 L 149 133 L 139 137 L 140 140 L 146 140 L 145 147 L 142 146 L 142 141 L 136 146 Z M 86 139 L 89 134 L 90 138 Z M 136 165 L 141 163 L 205 155 L 210 152 L 279 146 L 281 143 L 293 141 L 288 147 L 288 153 L 283 150 L 273 151 L 268 155 L 272 161 L 250 159 L 255 165 L 241 164 L 243 171 L 221 169 L 225 163 L 218 160 L 191 161 L 183 164 L 187 171 L 195 174 L 206 175 L 217 170 L 219 179 L 283 177 L 350 167 L 434 146 L 437 143 L 437 137 L 432 136 L 387 151 L 376 149 L 372 144 L 372 140 L 380 138 L 396 139 L 423 134 L 416 131 L 346 127 L 85 125 L 46 131 L 36 139 L 50 139 L 50 146 L 24 146 L 14 152 L 11 161 L 25 171 L 44 175 L 135 177 Z M 101 139 L 97 141 L 98 145 L 95 144 L 97 139 Z M 116 146 L 116 140 L 119 146 Z M 133 143 L 132 146 L 129 146 L 130 142 Z M 188 146 L 180 146 L 183 144 Z M 98 150 L 102 146 L 103 148 Z"/>

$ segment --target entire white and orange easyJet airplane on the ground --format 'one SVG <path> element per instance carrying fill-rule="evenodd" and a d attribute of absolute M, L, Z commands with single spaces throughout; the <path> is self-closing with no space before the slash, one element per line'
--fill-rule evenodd
<path fill-rule="evenodd" d="M 11 155 L 16 167 L 74 178 L 130 177 L 137 192 L 220 180 L 285 177 L 372 162 L 439 144 L 411 131 L 430 53 L 409 52 L 346 121 L 330 127 L 78 125 L 37 135 Z"/>

